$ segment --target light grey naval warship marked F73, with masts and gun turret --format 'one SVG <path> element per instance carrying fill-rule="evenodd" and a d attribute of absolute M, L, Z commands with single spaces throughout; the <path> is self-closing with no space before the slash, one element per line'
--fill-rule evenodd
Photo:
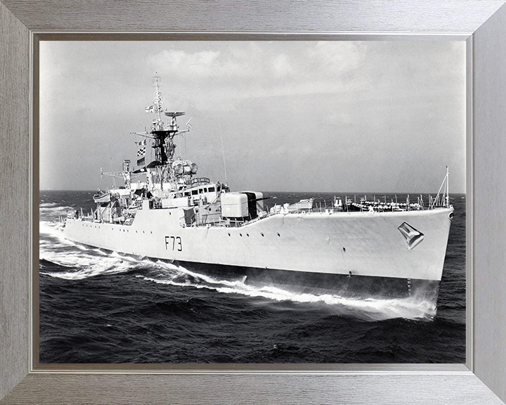
<path fill-rule="evenodd" d="M 231 191 L 198 176 L 195 162 L 178 158 L 176 122 L 185 112 L 162 108 L 155 76 L 150 130 L 135 133 L 136 165 L 125 160 L 124 186 L 98 191 L 96 209 L 72 210 L 65 237 L 136 257 L 161 259 L 246 283 L 284 285 L 366 297 L 420 296 L 437 300 L 453 207 L 448 167 L 439 191 L 425 203 L 335 198 L 267 209 L 259 191 Z M 155 159 L 145 161 L 146 146 Z"/>

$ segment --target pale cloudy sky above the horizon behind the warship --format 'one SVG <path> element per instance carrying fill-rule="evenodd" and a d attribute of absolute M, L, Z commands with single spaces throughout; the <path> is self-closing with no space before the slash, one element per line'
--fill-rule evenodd
<path fill-rule="evenodd" d="M 41 190 L 112 186 L 157 72 L 176 156 L 233 191 L 436 193 L 448 165 L 465 193 L 464 41 L 41 41 L 39 66 Z"/>

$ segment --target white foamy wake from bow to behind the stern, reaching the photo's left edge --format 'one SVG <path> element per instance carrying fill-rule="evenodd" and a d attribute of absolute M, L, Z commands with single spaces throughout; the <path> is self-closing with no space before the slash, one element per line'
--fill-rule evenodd
<path fill-rule="evenodd" d="M 82 280 L 96 276 L 131 274 L 150 283 L 243 295 L 253 298 L 254 304 L 273 309 L 278 307 L 307 311 L 323 308 L 329 314 L 349 316 L 361 321 L 396 318 L 431 320 L 436 315 L 434 302 L 417 295 L 406 298 L 344 297 L 339 293 L 301 293 L 290 290 L 289 286 L 249 285 L 246 276 L 235 279 L 209 276 L 161 260 L 119 255 L 79 245 L 64 238 L 62 226 L 58 222 L 41 221 L 39 232 L 39 271 L 46 276 Z"/>

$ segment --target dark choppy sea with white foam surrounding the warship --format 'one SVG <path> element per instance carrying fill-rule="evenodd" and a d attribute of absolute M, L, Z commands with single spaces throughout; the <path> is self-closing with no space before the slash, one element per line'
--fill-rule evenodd
<path fill-rule="evenodd" d="M 337 194 L 266 195 L 268 206 L 316 197 L 325 207 Z M 40 192 L 43 364 L 465 362 L 465 195 L 450 195 L 455 213 L 437 308 L 417 297 L 349 298 L 248 285 L 66 240 L 59 219 L 79 207 L 90 212 L 92 196 Z M 406 195 L 386 198 L 401 202 Z"/>

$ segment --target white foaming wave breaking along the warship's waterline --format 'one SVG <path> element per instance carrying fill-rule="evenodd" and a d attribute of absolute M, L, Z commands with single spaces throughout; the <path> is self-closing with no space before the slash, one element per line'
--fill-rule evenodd
<path fill-rule="evenodd" d="M 45 250 L 41 259 L 62 266 L 65 271 L 41 271 L 47 276 L 67 280 L 82 280 L 102 275 L 125 274 L 129 271 L 142 271 L 135 276 L 158 284 L 174 285 L 215 290 L 223 294 L 239 294 L 254 298 L 264 298 L 269 302 L 293 302 L 298 304 L 325 305 L 333 314 L 353 316 L 363 321 L 382 321 L 386 319 L 432 319 L 436 308 L 432 302 L 421 297 L 398 299 L 376 299 L 370 297 L 342 297 L 333 294 L 294 293 L 289 289 L 272 285 L 249 285 L 246 276 L 238 280 L 215 278 L 200 274 L 158 260 L 136 259 L 117 252 L 103 252 L 98 248 L 75 245 L 72 251 Z M 69 269 L 69 270 L 66 270 Z"/>

